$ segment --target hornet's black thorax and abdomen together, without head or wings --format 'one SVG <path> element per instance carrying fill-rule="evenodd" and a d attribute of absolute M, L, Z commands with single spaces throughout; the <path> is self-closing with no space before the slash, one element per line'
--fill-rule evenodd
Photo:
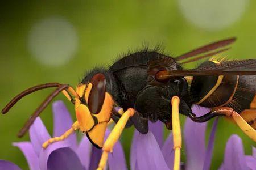
<path fill-rule="evenodd" d="M 234 61 L 222 63 L 224 66 L 235 64 Z M 214 67 L 217 67 L 216 63 L 207 61 L 197 70 Z M 191 84 L 188 84 L 184 76 L 174 76 L 166 81 L 160 81 L 156 79 L 156 73 L 163 70 L 182 70 L 182 68 L 175 58 L 154 51 L 142 51 L 119 59 L 108 70 L 96 68 L 90 71 L 81 83 L 89 82 L 96 73 L 104 74 L 106 91 L 113 96 L 114 101 L 124 110 L 134 108 L 137 111 L 127 122 L 126 127 L 134 125 L 143 134 L 148 132 L 148 121 L 160 120 L 171 129 L 170 100 L 173 96 L 180 98 L 180 113 L 191 117 L 193 121 L 204 122 L 218 115 L 210 114 L 196 120 L 193 119 L 195 114 L 191 111 L 191 105 L 198 103 L 212 90 L 218 76 L 193 76 Z M 250 109 L 250 103 L 256 93 L 254 82 L 256 75 L 225 75 L 217 90 L 199 105 L 208 108 L 231 107 L 238 113 Z M 112 110 L 112 118 L 117 122 L 121 115 L 115 109 Z"/>

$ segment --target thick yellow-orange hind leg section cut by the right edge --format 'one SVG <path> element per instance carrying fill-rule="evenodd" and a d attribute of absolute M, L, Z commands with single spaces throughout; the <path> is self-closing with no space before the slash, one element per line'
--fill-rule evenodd
<path fill-rule="evenodd" d="M 237 112 L 233 111 L 232 113 L 233 120 L 237 123 L 237 125 L 241 128 L 241 130 L 253 141 L 256 142 L 256 130 L 253 129 Z"/>

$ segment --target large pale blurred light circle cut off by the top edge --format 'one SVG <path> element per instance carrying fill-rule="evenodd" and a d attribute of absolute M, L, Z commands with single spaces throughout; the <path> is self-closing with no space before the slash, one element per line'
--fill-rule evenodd
<path fill-rule="evenodd" d="M 249 0 L 179 0 L 189 22 L 210 31 L 229 27 L 241 18 Z"/>

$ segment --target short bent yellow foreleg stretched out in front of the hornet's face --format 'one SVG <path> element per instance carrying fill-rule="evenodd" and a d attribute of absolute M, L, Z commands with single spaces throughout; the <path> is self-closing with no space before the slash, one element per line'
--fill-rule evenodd
<path fill-rule="evenodd" d="M 72 127 L 70 129 L 68 129 L 67 131 L 65 131 L 65 133 L 63 135 L 61 135 L 60 137 L 53 137 L 51 139 L 48 139 L 46 142 L 43 143 L 42 147 L 47 148 L 53 142 L 63 141 L 64 139 L 69 137 L 69 135 L 71 135 L 77 129 L 79 129 L 78 121 L 73 123 Z"/>

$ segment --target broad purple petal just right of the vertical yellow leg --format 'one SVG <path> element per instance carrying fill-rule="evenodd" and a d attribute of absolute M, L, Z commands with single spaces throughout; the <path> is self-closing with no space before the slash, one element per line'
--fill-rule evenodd
<path fill-rule="evenodd" d="M 196 111 L 199 111 L 199 109 Z M 195 113 L 198 115 L 202 114 L 201 112 Z M 196 123 L 190 118 L 187 118 L 185 122 L 184 141 L 187 155 L 186 169 L 203 169 L 205 158 L 206 126 L 207 123 Z"/>

